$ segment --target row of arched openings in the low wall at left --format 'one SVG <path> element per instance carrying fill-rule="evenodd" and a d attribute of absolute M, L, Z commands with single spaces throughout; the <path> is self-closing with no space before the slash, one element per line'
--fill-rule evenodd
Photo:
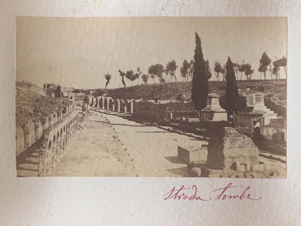
<path fill-rule="evenodd" d="M 64 122 L 58 125 L 54 130 L 49 133 L 45 163 L 43 173 L 49 175 L 51 168 L 56 167 L 56 163 L 66 154 L 66 147 L 70 144 L 79 125 L 79 114 L 70 115 Z"/>

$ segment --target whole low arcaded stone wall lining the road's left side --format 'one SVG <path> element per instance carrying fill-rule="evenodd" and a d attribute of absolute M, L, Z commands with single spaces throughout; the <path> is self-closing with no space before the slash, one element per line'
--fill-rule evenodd
<path fill-rule="evenodd" d="M 47 176 L 51 168 L 60 160 L 62 150 L 71 142 L 78 131 L 79 111 L 75 110 L 60 119 L 47 130 L 39 144 L 39 171 L 38 176 Z"/>

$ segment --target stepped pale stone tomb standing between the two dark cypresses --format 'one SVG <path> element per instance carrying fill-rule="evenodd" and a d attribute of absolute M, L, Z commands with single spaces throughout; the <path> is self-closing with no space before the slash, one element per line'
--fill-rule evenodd
<path fill-rule="evenodd" d="M 227 121 L 227 111 L 219 105 L 219 95 L 208 94 L 207 106 L 200 111 L 200 121 Z"/>

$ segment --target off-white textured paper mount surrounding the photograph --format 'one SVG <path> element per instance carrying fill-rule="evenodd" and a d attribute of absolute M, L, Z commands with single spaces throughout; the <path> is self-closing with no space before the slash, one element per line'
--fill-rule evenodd
<path fill-rule="evenodd" d="M 301 225 L 299 1 L 8 1 L 0 3 L 0 222 L 2 225 Z M 287 179 L 16 178 L 15 16 L 287 16 Z M 235 25 L 234 25 L 235 26 Z M 199 194 L 229 182 L 262 200 L 164 201 L 172 187 Z"/>

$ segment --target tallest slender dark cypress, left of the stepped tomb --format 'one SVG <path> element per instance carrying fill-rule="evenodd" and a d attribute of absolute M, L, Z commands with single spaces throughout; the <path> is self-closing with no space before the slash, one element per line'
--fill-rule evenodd
<path fill-rule="evenodd" d="M 206 76 L 201 39 L 197 33 L 195 33 L 195 44 L 191 99 L 194 103 L 194 108 L 199 111 L 200 114 L 200 110 L 206 107 L 207 103 L 208 78 Z"/>

